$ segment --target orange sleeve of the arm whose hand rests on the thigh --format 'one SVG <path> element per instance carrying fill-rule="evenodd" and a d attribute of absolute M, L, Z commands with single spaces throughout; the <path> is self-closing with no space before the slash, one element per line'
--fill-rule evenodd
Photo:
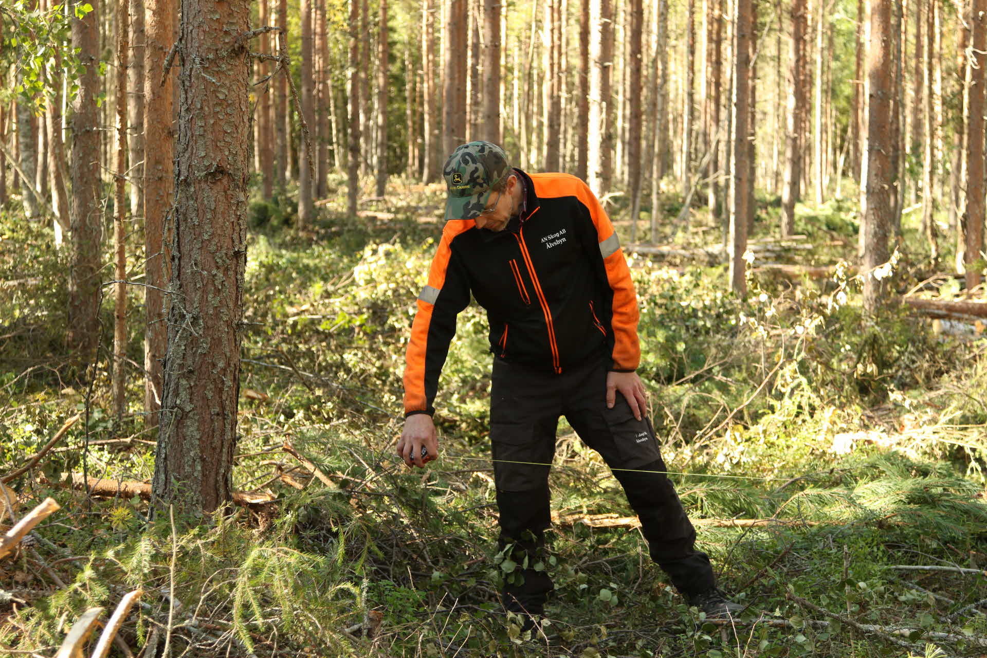
<path fill-rule="evenodd" d="M 577 196 L 589 209 L 589 216 L 596 227 L 596 240 L 606 269 L 607 282 L 614 293 L 611 317 L 614 350 L 611 370 L 633 372 L 641 362 L 641 344 L 638 341 L 638 296 L 631 280 L 631 268 L 627 265 L 627 258 L 624 257 L 624 250 L 620 247 L 613 224 L 596 195 L 588 185 L 581 183 Z"/>

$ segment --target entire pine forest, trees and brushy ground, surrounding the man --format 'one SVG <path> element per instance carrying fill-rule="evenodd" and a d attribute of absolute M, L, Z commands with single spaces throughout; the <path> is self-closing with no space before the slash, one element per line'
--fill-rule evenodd
<path fill-rule="evenodd" d="M 0 656 L 987 655 L 987 0 L 0 0 L 0 36 Z M 475 304 L 438 459 L 398 457 L 471 140 L 612 220 L 734 619 L 565 420 L 547 551 L 498 551 Z"/>

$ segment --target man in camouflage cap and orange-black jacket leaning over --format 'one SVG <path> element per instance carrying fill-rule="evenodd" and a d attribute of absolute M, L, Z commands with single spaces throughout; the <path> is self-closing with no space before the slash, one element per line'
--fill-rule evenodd
<path fill-rule="evenodd" d="M 418 296 L 405 370 L 409 467 L 438 457 L 431 414 L 439 373 L 471 293 L 487 310 L 493 352 L 491 442 L 501 549 L 538 561 L 551 525 L 549 464 L 561 415 L 614 469 L 651 558 L 711 617 L 740 610 L 716 587 L 706 553 L 664 472 L 645 417 L 638 303 L 617 235 L 589 187 L 567 174 L 526 174 L 490 142 L 457 148 L 443 170 L 445 228 Z M 618 396 L 617 394 L 620 393 Z M 503 586 L 530 627 L 553 589 L 544 570 Z"/>

